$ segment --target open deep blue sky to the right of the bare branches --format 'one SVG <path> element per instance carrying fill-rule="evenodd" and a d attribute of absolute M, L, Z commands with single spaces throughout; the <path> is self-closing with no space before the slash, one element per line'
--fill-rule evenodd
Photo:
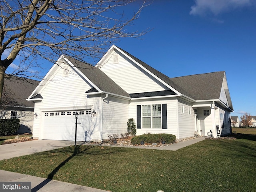
<path fill-rule="evenodd" d="M 226 71 L 232 116 L 256 116 L 256 1 L 155 0 L 116 43 L 169 77 Z"/>

